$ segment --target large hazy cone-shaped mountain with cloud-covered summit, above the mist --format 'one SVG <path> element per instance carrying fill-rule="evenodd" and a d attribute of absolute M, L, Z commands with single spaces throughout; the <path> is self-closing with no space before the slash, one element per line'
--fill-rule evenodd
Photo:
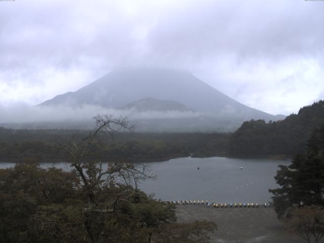
<path fill-rule="evenodd" d="M 146 97 L 176 101 L 217 117 L 276 120 L 274 115 L 243 105 L 188 72 L 161 68 L 116 69 L 76 92 L 58 95 L 41 105 L 118 108 Z"/>

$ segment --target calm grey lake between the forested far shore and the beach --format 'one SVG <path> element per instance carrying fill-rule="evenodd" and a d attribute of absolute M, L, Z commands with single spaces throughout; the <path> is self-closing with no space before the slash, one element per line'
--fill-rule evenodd
<path fill-rule="evenodd" d="M 147 163 L 150 174 L 157 178 L 142 182 L 140 188 L 155 193 L 155 198 L 162 200 L 261 204 L 271 200 L 268 189 L 278 187 L 273 178 L 277 166 L 290 163 L 290 160 L 262 158 L 175 158 Z M 0 163 L 0 168 L 10 166 L 13 164 Z M 49 166 L 52 164 L 42 164 L 44 168 Z M 69 170 L 67 163 L 56 163 L 55 166 Z"/>

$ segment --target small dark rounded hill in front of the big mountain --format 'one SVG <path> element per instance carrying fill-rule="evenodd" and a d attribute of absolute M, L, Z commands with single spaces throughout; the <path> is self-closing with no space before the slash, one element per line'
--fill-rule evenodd
<path fill-rule="evenodd" d="M 119 109 L 128 110 L 135 109 L 136 111 L 179 111 L 179 112 L 195 112 L 189 107 L 173 101 L 173 100 L 158 100 L 155 98 L 145 98 L 132 103 L 121 106 Z"/>

